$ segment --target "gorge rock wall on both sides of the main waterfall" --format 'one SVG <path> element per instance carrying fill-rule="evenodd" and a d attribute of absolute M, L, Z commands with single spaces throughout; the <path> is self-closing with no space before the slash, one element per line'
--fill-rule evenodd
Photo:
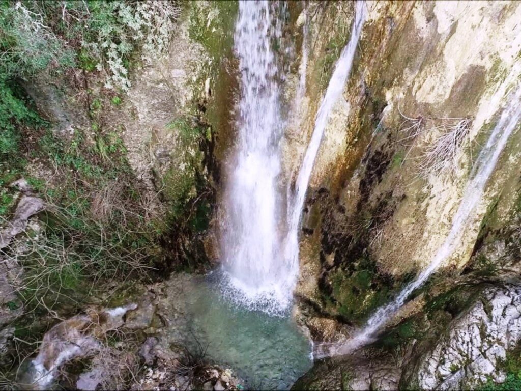
<path fill-rule="evenodd" d="M 299 233 L 294 315 L 315 343 L 348 339 L 430 263 L 451 229 L 476 157 L 521 82 L 517 2 L 368 1 L 364 6 L 366 21 L 351 76 L 321 142 Z M 139 247 L 146 256 L 139 259 L 145 269 L 157 272 L 138 268 L 129 275 L 148 284 L 147 295 L 154 296 L 148 302 L 160 301 L 156 290 L 168 290 L 150 288 L 149 272 L 157 282 L 172 270 L 204 272 L 219 261 L 223 216 L 218 205 L 237 140 L 240 78 L 233 31 L 238 6 L 196 1 L 181 8 L 168 50 L 153 61 L 136 61 L 125 93 L 106 89 L 103 71 L 87 66 L 72 72 L 72 84 L 65 76 L 60 85 L 48 75 L 21 80 L 52 135 L 67 146 L 60 155 L 66 169 L 57 170 L 58 152 L 49 145 L 31 143 L 44 140 L 43 133 L 24 128 L 29 144 L 20 153 L 27 165 L 16 174 L 2 171 L 2 195 L 13 196 L 2 205 L 7 211 L 14 213 L 17 200 L 25 197 L 18 185 L 10 186 L 23 176 L 34 187 L 28 195 L 44 198 L 46 206 L 65 205 L 72 217 L 102 216 L 124 226 L 134 220 L 120 218 L 123 207 L 108 211 L 95 195 L 130 184 L 113 199 L 124 199 L 127 209 L 143 217 L 135 223 L 143 231 L 132 226 L 146 233 Z M 348 1 L 288 3 L 280 45 L 288 50 L 279 64 L 287 125 L 280 145 L 281 187 L 295 182 L 353 18 Z M 445 148 L 442 140 L 448 134 L 453 144 Z M 103 140 L 110 140 L 110 149 L 103 149 Z M 99 170 L 95 164 L 85 167 L 85 156 L 103 166 L 103 175 L 91 176 Z M 113 162 L 122 162 L 123 168 L 106 168 Z M 67 170 L 77 181 L 64 179 Z M 456 389 L 508 380 L 513 367 L 505 362 L 517 362 L 521 336 L 520 178 L 517 127 L 472 221 L 463 228 L 457 251 L 414 292 L 376 343 L 350 357 L 317 361 L 295 389 Z M 81 184 L 81 191 L 60 187 L 62 182 Z M 75 191 L 72 198 L 69 190 Z M 58 198 L 62 191 L 65 195 Z M 29 217 L 31 233 L 49 222 Z M 84 227 L 79 231 L 85 233 Z M 141 246 L 132 238 L 128 247 L 133 243 Z M 9 326 L 2 334 L 4 362 L 14 355 L 15 331 L 42 336 L 55 322 L 52 317 L 27 321 L 22 310 L 28 304 L 14 295 L 13 271 L 0 270 L 7 292 L 3 324 Z M 80 291 L 77 279 L 73 282 L 68 291 Z M 93 299 L 62 303 L 54 314 L 76 315 L 91 302 L 120 306 L 123 294 L 114 294 L 120 292 L 119 283 L 110 284 L 107 290 L 116 298 L 103 291 Z M 142 295 L 142 287 L 129 293 L 129 285 L 121 283 L 125 295 Z M 176 307 L 162 300 L 165 307 Z M 143 307 L 152 307 L 148 302 Z M 146 336 L 163 322 L 153 308 L 143 326 Z"/>

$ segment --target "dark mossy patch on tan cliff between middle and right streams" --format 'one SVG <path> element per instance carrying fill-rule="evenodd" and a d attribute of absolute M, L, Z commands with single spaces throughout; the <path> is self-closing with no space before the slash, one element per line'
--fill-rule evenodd
<path fill-rule="evenodd" d="M 390 140 L 390 139 L 389 139 Z M 392 277 L 378 270 L 371 247 L 383 240 L 383 225 L 391 218 L 400 197 L 392 192 L 371 197 L 391 163 L 392 142 L 368 151 L 359 181 L 359 198 L 353 215 L 328 191 L 321 196 L 321 256 L 334 254 L 332 264 L 323 263 L 319 281 L 324 309 L 348 323 L 361 323 L 373 310 L 386 303 L 413 275 Z"/>

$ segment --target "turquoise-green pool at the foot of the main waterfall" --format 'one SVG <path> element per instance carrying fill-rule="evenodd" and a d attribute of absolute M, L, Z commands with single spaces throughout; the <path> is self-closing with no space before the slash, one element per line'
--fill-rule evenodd
<path fill-rule="evenodd" d="M 311 369 L 311 344 L 290 313 L 270 316 L 222 296 L 219 272 L 183 279 L 175 300 L 182 302 L 185 343 L 208 344 L 210 362 L 232 369 L 246 389 L 289 389 Z M 180 333 L 181 332 L 181 333 Z"/>

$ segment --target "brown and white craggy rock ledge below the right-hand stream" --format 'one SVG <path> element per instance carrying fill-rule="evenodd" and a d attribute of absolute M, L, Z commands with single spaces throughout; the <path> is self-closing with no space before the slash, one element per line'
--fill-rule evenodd
<path fill-rule="evenodd" d="M 489 286 L 441 337 L 412 339 L 393 350 L 375 344 L 352 356 L 320 361 L 294 388 L 475 389 L 489 379 L 505 381 L 501 362 L 520 340 L 521 286 Z"/>

